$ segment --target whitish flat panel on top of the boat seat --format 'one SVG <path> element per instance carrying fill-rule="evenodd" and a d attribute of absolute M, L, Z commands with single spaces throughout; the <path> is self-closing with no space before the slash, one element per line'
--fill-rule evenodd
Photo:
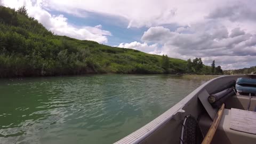
<path fill-rule="evenodd" d="M 256 112 L 231 108 L 230 129 L 256 134 Z"/>

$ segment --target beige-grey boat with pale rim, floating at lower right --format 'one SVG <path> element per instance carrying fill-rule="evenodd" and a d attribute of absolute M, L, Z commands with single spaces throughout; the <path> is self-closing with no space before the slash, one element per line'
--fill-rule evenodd
<path fill-rule="evenodd" d="M 238 85 L 242 86 L 238 92 L 239 78 L 253 80 L 255 84 Z M 235 84 L 230 86 L 230 83 Z M 219 106 L 211 105 L 209 96 L 230 87 L 234 88 L 233 93 L 224 100 L 220 99 L 223 100 L 221 105 L 225 103 L 225 109 L 210 143 L 256 143 L 256 75 L 214 78 L 199 86 L 161 116 L 116 143 L 201 143 L 183 140 L 185 119 L 187 116 L 194 117 L 204 138 L 220 109 Z M 197 134 L 194 136 L 196 138 Z"/>

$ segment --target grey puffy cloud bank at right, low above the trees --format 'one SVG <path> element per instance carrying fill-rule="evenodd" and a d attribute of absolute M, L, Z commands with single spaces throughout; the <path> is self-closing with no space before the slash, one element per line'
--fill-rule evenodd
<path fill-rule="evenodd" d="M 143 34 L 141 41 L 163 44 L 158 51 L 169 57 L 201 57 L 206 65 L 211 65 L 215 60 L 223 69 L 255 65 L 255 34 L 245 33 L 239 28 L 228 31 L 219 23 L 198 23 L 188 28 L 178 28 L 176 31 L 189 33 L 177 33 L 164 27 L 150 27 Z"/>

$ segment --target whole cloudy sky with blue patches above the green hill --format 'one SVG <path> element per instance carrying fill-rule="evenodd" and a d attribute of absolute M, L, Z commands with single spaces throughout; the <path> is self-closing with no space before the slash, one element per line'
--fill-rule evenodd
<path fill-rule="evenodd" d="M 167 54 L 202 58 L 222 69 L 256 66 L 253 0 L 0 0 L 25 5 L 56 35 Z"/>

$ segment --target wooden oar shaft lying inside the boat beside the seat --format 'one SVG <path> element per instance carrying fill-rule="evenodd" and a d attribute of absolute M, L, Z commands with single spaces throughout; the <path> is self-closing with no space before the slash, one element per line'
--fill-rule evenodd
<path fill-rule="evenodd" d="M 212 138 L 217 130 L 217 127 L 219 125 L 223 110 L 224 110 L 225 104 L 223 103 L 218 111 L 218 113 L 216 114 L 214 121 L 209 129 L 209 131 L 207 132 L 206 136 L 204 137 L 204 140 L 202 142 L 202 144 L 210 144 L 212 141 Z"/>

